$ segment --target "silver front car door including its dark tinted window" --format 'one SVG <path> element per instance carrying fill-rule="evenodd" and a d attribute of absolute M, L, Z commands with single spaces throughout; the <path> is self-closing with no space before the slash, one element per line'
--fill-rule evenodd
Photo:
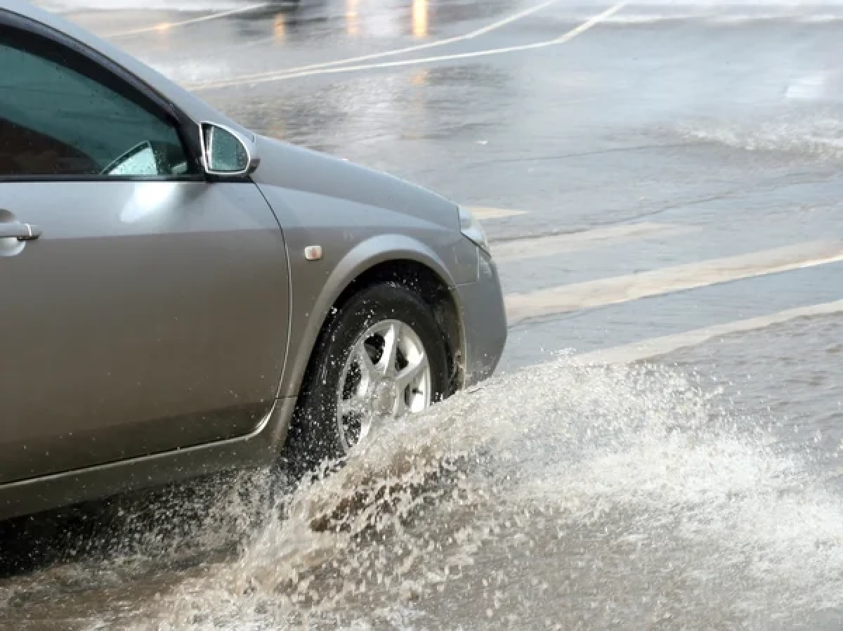
<path fill-rule="evenodd" d="M 282 231 L 157 94 L 0 11 L 0 483 L 230 439 L 274 403 Z"/>

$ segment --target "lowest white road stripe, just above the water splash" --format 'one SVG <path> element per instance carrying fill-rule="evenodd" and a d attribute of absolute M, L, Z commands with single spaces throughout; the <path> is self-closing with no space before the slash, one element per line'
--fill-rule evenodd
<path fill-rule="evenodd" d="M 796 318 L 835 315 L 839 313 L 843 313 L 843 300 L 827 302 L 822 305 L 797 307 L 796 309 L 779 311 L 771 315 L 759 315 L 758 317 L 747 320 L 706 326 L 705 328 L 677 333 L 676 335 L 652 337 L 642 340 L 642 342 L 633 342 L 631 344 L 624 344 L 623 346 L 616 346 L 615 348 L 605 348 L 599 351 L 592 351 L 591 353 L 574 355 L 571 361 L 577 365 L 631 364 L 632 362 L 654 359 L 668 353 L 674 353 L 674 351 L 678 351 L 681 348 L 699 346 L 724 335 L 755 331 L 766 326 L 795 320 Z"/>

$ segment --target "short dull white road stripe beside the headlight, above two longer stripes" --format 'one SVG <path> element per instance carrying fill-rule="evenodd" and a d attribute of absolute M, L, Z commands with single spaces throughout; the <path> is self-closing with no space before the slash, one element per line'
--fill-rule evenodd
<path fill-rule="evenodd" d="M 695 231 L 698 228 L 682 224 L 620 224 L 607 228 L 584 230 L 567 235 L 550 235 L 530 239 L 507 241 L 492 246 L 492 254 L 497 261 L 524 261 L 578 252 L 594 247 L 619 245 L 633 240 L 647 239 L 652 236 L 674 237 Z"/>

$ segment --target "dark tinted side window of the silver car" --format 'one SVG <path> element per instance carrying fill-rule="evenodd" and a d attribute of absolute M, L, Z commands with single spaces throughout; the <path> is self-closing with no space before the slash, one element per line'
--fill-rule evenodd
<path fill-rule="evenodd" d="M 0 177 L 192 172 L 173 125 L 60 62 L 0 43 Z"/>

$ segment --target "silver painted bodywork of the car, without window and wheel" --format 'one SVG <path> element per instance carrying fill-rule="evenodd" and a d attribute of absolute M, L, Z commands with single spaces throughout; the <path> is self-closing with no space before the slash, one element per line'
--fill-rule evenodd
<path fill-rule="evenodd" d="M 447 286 L 466 385 L 495 369 L 507 331 L 497 270 L 460 233 L 454 202 L 256 136 L 30 3 L 4 11 L 56 30 L 63 46 L 69 36 L 148 93 L 194 158 L 209 121 L 260 163 L 238 181 L 0 182 L 5 218 L 44 231 L 0 243 L 0 289 L 15 297 L 0 312 L 14 332 L 0 360 L 0 448 L 11 454 L 0 518 L 275 461 L 325 317 L 381 263 L 420 263 Z M 322 247 L 318 260 L 309 245 Z"/>

